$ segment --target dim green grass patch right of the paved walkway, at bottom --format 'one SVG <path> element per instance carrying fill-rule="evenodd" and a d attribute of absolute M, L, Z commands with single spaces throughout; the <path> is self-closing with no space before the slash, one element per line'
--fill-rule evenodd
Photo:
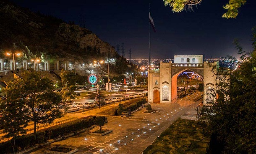
<path fill-rule="evenodd" d="M 206 154 L 210 134 L 198 121 L 178 119 L 143 154 Z"/>

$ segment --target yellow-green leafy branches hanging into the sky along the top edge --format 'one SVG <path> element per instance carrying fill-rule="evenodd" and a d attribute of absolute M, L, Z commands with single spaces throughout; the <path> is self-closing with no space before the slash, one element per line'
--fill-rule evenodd
<path fill-rule="evenodd" d="M 163 0 L 165 6 L 170 6 L 172 12 L 179 13 L 185 9 L 193 10 L 193 6 L 200 4 L 202 0 Z M 236 18 L 238 15 L 238 9 L 245 5 L 246 0 L 229 0 L 223 8 L 227 10 L 226 13 L 222 15 L 222 18 Z"/>

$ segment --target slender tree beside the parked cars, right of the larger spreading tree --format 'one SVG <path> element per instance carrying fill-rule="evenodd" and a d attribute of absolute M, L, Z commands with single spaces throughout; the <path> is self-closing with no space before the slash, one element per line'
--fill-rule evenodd
<path fill-rule="evenodd" d="M 60 91 L 64 105 L 64 114 L 67 114 L 70 102 L 78 96 L 76 90 L 76 73 L 62 70 L 60 73 L 62 89 Z"/>

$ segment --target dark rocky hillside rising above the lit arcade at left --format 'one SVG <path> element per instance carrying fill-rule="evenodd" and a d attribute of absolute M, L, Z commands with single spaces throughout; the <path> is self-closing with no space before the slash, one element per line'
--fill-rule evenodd
<path fill-rule="evenodd" d="M 90 30 L 52 16 L 33 13 L 8 0 L 0 1 L 0 23 L 2 58 L 3 51 L 13 48 L 13 43 L 25 53 L 29 49 L 37 57 L 44 53 L 46 58 L 86 62 L 94 57 L 117 56 L 114 47 Z"/>

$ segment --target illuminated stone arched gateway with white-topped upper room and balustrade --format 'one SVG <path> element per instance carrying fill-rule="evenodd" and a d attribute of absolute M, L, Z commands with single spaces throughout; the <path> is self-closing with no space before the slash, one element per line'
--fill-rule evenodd
<path fill-rule="evenodd" d="M 204 80 L 204 104 L 215 102 L 209 91 L 216 90 L 218 62 L 204 62 L 204 55 L 174 55 L 174 63 L 160 62 L 159 70 L 148 72 L 149 103 L 174 103 L 177 101 L 177 76 L 186 70 L 198 73 Z M 214 73 L 212 72 L 214 68 Z M 209 90 L 210 89 L 210 90 Z"/>

